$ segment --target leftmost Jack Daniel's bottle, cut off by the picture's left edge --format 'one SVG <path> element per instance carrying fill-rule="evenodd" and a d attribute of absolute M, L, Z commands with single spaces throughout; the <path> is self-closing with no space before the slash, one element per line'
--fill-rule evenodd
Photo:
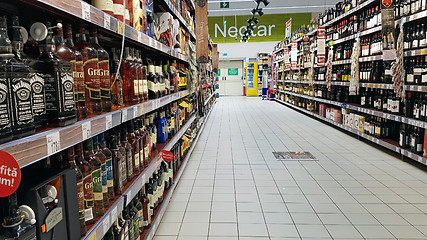
<path fill-rule="evenodd" d="M 12 139 L 12 102 L 6 71 L 7 63 L 13 58 L 13 54 L 6 27 L 6 19 L 0 17 L 0 143 Z"/>

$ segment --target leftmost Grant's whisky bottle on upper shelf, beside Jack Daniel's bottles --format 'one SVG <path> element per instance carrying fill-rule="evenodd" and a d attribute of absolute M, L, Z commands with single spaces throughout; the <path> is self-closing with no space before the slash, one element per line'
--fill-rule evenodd
<path fill-rule="evenodd" d="M 81 120 L 87 117 L 83 56 L 74 46 L 71 24 L 67 24 L 65 44 L 74 51 L 75 55 L 75 60 L 71 61 L 73 64 L 74 101 L 76 102 L 77 119 Z"/>

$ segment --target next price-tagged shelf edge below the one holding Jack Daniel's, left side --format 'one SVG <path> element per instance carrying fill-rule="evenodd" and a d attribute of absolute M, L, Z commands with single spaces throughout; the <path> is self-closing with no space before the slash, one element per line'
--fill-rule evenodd
<path fill-rule="evenodd" d="M 196 116 L 192 116 L 184 126 L 178 131 L 177 134 L 166 144 L 163 148 L 165 150 L 170 150 L 172 146 L 178 142 L 179 139 L 184 135 L 190 125 L 194 122 Z M 157 166 L 161 163 L 160 153 L 155 156 L 150 165 L 144 169 L 138 177 L 132 179 L 131 185 L 126 189 L 126 191 L 113 203 L 113 205 L 105 212 L 105 214 L 93 225 L 93 227 L 87 232 L 87 234 L 82 238 L 84 240 L 101 240 L 108 229 L 113 225 L 114 221 L 117 219 L 118 214 L 124 209 L 125 206 L 129 204 L 136 194 L 142 189 L 146 182 L 146 177 L 149 178 Z"/>

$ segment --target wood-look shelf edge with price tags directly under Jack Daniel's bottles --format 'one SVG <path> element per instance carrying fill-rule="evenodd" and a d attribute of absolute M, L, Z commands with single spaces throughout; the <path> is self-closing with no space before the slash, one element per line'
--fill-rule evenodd
<path fill-rule="evenodd" d="M 0 145 L 0 150 L 14 156 L 22 168 L 187 95 L 189 95 L 188 91 L 181 91 L 114 112 L 94 116 L 67 127 L 55 128 L 4 143 Z"/>

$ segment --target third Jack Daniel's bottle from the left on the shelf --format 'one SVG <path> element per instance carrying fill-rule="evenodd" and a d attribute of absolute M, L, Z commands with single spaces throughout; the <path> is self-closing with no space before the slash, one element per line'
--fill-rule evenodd
<path fill-rule="evenodd" d="M 37 73 L 33 68 L 32 64 L 36 61 L 35 59 L 29 59 L 23 53 L 23 38 L 21 34 L 21 27 L 19 26 L 19 18 L 12 16 L 9 18 L 9 36 L 12 42 L 13 49 L 16 57 L 26 65 L 30 66 L 30 79 L 31 79 L 31 99 L 32 109 L 34 116 L 34 125 L 36 130 L 40 130 L 46 126 L 46 96 L 44 90 L 44 79 L 41 74 Z"/>

